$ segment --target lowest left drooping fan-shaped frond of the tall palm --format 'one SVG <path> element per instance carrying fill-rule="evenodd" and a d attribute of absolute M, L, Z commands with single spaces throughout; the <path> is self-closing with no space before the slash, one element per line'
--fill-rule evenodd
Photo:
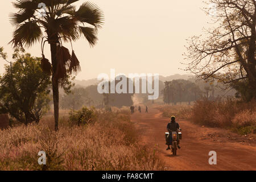
<path fill-rule="evenodd" d="M 39 42 L 43 36 L 41 28 L 34 21 L 20 24 L 13 33 L 13 40 L 10 43 L 14 47 L 30 47 L 32 44 Z"/>

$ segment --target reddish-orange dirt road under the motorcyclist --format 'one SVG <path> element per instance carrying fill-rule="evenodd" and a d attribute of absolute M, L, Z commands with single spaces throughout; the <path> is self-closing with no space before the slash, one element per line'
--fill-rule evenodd
<path fill-rule="evenodd" d="M 142 108 L 144 111 L 144 108 Z M 131 121 L 142 134 L 142 142 L 156 148 L 167 170 L 256 170 L 254 143 L 237 142 L 226 130 L 201 127 L 189 121 L 177 120 L 182 129 L 181 149 L 172 156 L 166 151 L 164 133 L 169 122 L 157 109 L 150 113 L 134 113 Z M 209 151 L 217 152 L 217 164 L 210 165 Z"/>

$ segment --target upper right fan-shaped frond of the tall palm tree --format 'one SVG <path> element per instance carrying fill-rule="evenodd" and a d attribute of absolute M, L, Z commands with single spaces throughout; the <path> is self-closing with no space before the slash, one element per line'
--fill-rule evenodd
<path fill-rule="evenodd" d="M 74 16 L 80 22 L 89 23 L 96 28 L 100 28 L 104 20 L 103 11 L 97 5 L 90 2 L 82 3 Z"/>

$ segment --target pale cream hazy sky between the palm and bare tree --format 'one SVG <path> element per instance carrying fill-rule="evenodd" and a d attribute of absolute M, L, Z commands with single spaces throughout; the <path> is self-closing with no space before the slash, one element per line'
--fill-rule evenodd
<path fill-rule="evenodd" d="M 9 14 L 15 13 L 12 1 L 0 1 L 0 47 L 11 58 L 10 42 L 14 27 Z M 85 2 L 80 0 L 80 3 Z M 99 31 L 98 44 L 90 48 L 85 39 L 73 43 L 80 60 L 82 72 L 77 79 L 95 78 L 100 73 L 159 73 L 163 76 L 185 74 L 182 54 L 186 38 L 200 35 L 208 17 L 201 10 L 203 0 L 93 0 L 105 14 L 105 24 Z M 80 4 L 78 3 L 78 4 Z M 67 44 L 71 50 L 71 46 Z M 33 56 L 40 56 L 40 43 L 27 49 Z M 50 60 L 49 47 L 44 48 Z M 4 60 L 0 60 L 3 73 Z"/>

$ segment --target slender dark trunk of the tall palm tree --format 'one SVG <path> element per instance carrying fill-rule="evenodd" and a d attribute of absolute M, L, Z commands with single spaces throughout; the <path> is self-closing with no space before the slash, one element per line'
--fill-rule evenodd
<path fill-rule="evenodd" d="M 56 40 L 53 38 L 52 40 Z M 51 45 L 51 59 L 52 59 L 52 95 L 53 95 L 53 108 L 54 108 L 54 122 L 55 122 L 55 131 L 59 129 L 59 81 L 56 78 L 56 68 L 57 68 L 57 60 L 56 60 L 56 51 L 57 44 L 55 41 L 50 43 Z"/>

